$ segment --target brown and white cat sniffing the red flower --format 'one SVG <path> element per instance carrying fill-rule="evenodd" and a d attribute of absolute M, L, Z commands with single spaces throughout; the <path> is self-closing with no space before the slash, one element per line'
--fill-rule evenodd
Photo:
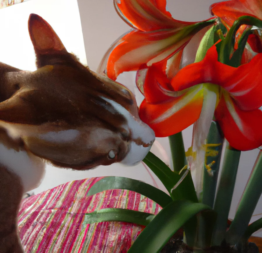
<path fill-rule="evenodd" d="M 0 63 L 0 253 L 23 252 L 16 215 L 43 159 L 76 170 L 135 165 L 155 140 L 125 86 L 83 66 L 40 16 L 28 28 L 37 70 Z"/>

